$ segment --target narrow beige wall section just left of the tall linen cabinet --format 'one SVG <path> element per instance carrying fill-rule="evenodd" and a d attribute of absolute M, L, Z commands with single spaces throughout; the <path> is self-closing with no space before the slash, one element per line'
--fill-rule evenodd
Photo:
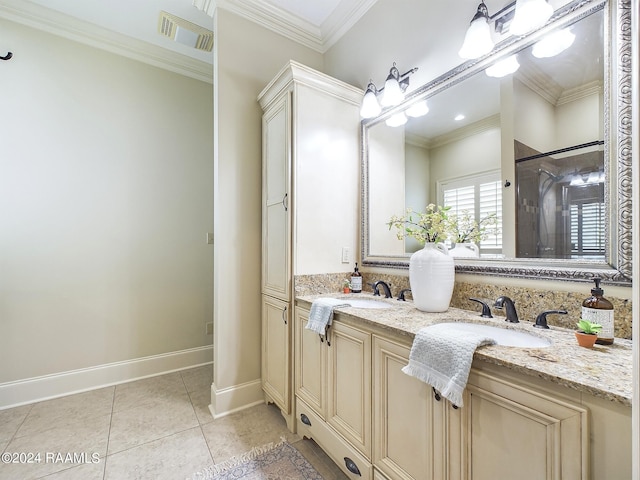
<path fill-rule="evenodd" d="M 288 60 L 322 56 L 218 8 L 214 72 L 214 387 L 217 415 L 261 399 L 261 119 L 258 94 Z M 259 398 L 258 398 L 259 395 Z"/>

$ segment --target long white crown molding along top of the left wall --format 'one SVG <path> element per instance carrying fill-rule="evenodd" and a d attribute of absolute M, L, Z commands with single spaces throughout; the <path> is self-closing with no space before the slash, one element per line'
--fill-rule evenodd
<path fill-rule="evenodd" d="M 207 62 L 116 33 L 24 0 L 1 0 L 0 18 L 180 75 L 213 83 Z"/>

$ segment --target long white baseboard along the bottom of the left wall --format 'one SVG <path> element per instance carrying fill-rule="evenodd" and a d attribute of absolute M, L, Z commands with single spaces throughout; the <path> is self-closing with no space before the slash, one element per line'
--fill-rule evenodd
<path fill-rule="evenodd" d="M 0 410 L 213 362 L 213 346 L 0 383 Z"/>

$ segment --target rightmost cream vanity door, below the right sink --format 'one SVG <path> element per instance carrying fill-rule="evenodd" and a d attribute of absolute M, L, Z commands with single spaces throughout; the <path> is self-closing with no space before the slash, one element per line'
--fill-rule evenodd
<path fill-rule="evenodd" d="M 588 478 L 584 408 L 478 371 L 467 391 L 469 478 Z"/>

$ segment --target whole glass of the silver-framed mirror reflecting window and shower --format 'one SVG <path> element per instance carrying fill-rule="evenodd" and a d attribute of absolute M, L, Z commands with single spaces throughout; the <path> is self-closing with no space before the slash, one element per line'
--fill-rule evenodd
<path fill-rule="evenodd" d="M 617 227 L 609 215 L 617 198 L 609 193 L 620 190 L 613 184 L 620 179 L 611 178 L 618 152 L 606 138 L 609 5 L 573 4 L 578 7 L 569 5 L 554 19 L 556 28 L 513 40 L 495 54 L 511 58 L 506 74 L 487 74 L 487 67 L 504 63 L 491 56 L 478 68 L 465 64 L 419 88 L 406 105 L 363 122 L 365 265 L 406 266 L 420 246 L 398 240 L 389 219 L 434 203 L 477 221 L 496 214 L 500 235 L 479 242 L 481 260 L 611 268 L 617 245 L 607 234 Z M 555 32 L 564 35 L 551 42 L 556 51 L 542 51 L 540 40 Z M 426 100 L 426 115 L 400 127 L 385 122 L 418 100 Z M 625 234 L 628 228 L 621 227 Z"/>

